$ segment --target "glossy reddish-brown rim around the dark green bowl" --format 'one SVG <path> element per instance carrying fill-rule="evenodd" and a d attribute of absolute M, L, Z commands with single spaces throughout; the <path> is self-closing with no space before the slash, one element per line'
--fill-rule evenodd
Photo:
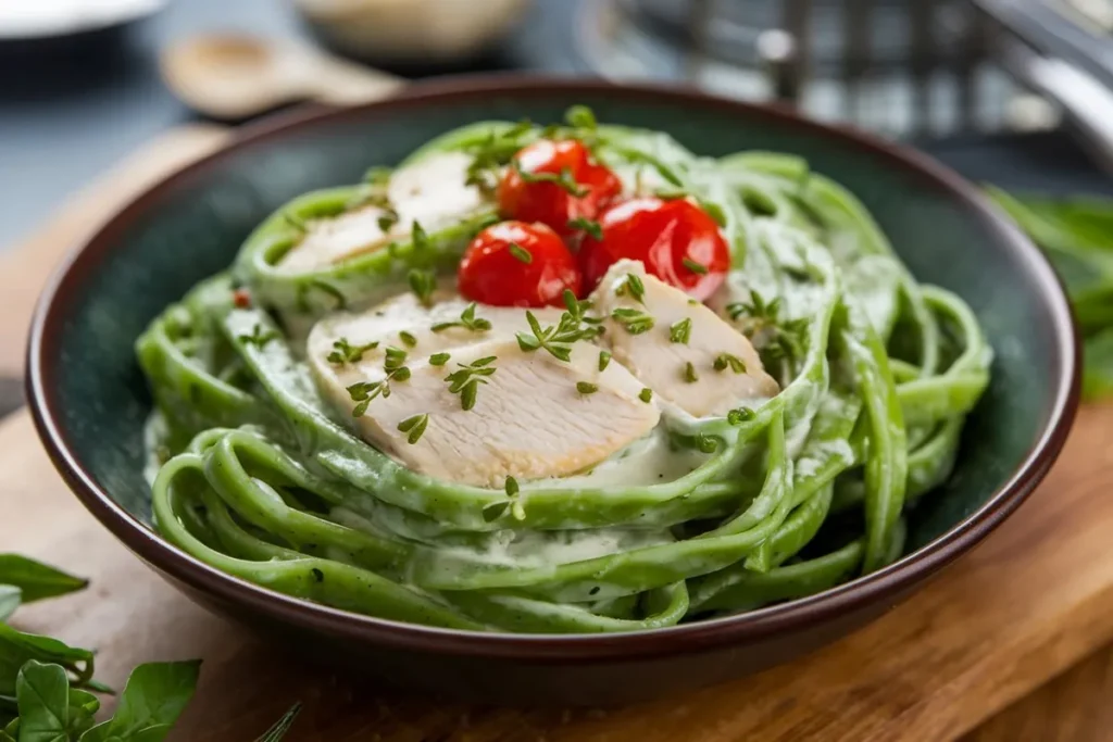
<path fill-rule="evenodd" d="M 277 593 L 233 577 L 171 545 L 116 504 L 78 459 L 59 423 L 59 408 L 49 385 L 51 358 L 57 357 L 58 332 L 67 308 L 89 275 L 86 268 L 110 255 L 121 231 L 141 216 L 147 206 L 183 184 L 203 177 L 208 169 L 237 152 L 267 146 L 288 133 L 345 119 L 374 119 L 393 111 L 435 106 L 439 102 L 480 100 L 495 95 L 536 98 L 605 93 L 624 100 L 667 99 L 735 113 L 788 127 L 805 135 L 835 140 L 887 162 L 922 184 L 946 191 L 955 202 L 996 234 L 1006 250 L 1015 254 L 1022 269 L 1036 286 L 1048 313 L 1056 343 L 1050 358 L 1054 397 L 1047 422 L 1023 462 L 974 513 L 916 552 L 887 567 L 805 598 L 758 611 L 710 619 L 679 626 L 618 634 L 513 634 L 439 629 L 349 613 Z M 55 339 L 51 339 L 55 338 Z M 214 595 L 229 605 L 255 614 L 324 632 L 353 642 L 374 642 L 395 650 L 471 657 L 501 657 L 548 663 L 587 663 L 622 659 L 649 659 L 681 654 L 726 644 L 754 642 L 774 633 L 819 624 L 883 600 L 895 604 L 909 587 L 979 543 L 1032 493 L 1051 468 L 1066 441 L 1080 397 L 1081 346 L 1062 284 L 1043 254 L 986 199 L 978 189 L 930 157 L 903 145 L 884 141 L 860 131 L 800 118 L 777 105 L 756 105 L 720 98 L 681 86 L 661 83 L 615 85 L 602 80 L 545 76 L 463 76 L 416 83 L 397 96 L 334 109 L 307 107 L 246 127 L 226 146 L 180 168 L 132 197 L 93 231 L 57 268 L 36 307 L 27 347 L 27 397 L 36 428 L 55 467 L 92 515 L 136 555 L 164 576 L 194 591 Z"/>

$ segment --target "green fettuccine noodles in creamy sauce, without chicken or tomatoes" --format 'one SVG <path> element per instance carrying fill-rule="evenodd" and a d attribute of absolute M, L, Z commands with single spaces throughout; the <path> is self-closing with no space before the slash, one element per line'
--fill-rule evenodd
<path fill-rule="evenodd" d="M 339 408 L 307 357 L 313 328 L 407 293 L 434 306 L 471 240 L 500 219 L 484 178 L 516 167 L 523 146 L 561 138 L 589 145 L 626 188 L 668 190 L 715 216 L 732 265 L 708 306 L 752 340 L 779 390 L 740 398 L 729 414 L 661 406 L 648 437 L 571 476 L 508 476 L 495 487 L 422 473 L 368 443 L 356 418 L 368 405 L 374 413 L 380 395 L 402 398 L 413 383 L 406 364 L 418 356 L 459 379 L 464 410 L 469 379 L 472 404 L 476 394 L 482 403 L 486 380 L 509 372 L 454 347 L 431 356 L 427 339 L 402 327 L 390 342 L 341 338 L 334 367 L 377 354 L 386 376 L 348 386 L 356 407 Z M 388 189 L 451 162 L 466 166 L 480 199 L 452 219 L 413 217 L 394 229 L 405 215 Z M 349 240 L 346 251 L 287 261 L 326 238 L 329 249 Z M 514 247 L 520 261 L 533 260 Z M 442 326 L 482 336 L 485 311 L 473 305 Z M 591 311 L 571 301 L 564 317 L 585 313 L 588 324 L 578 321 L 590 329 L 604 319 Z M 687 346 L 693 332 L 686 323 L 671 343 Z M 549 357 L 528 348 L 531 363 Z M 620 354 L 594 353 L 598 373 L 621 369 Z M 530 633 L 637 631 L 750 611 L 892 563 L 905 513 L 949 475 L 992 360 L 962 299 L 918 284 L 865 208 L 801 159 L 699 157 L 660 132 L 595 126 L 582 109 L 567 126 L 464 127 L 394 171 L 295 199 L 248 237 L 227 273 L 168 307 L 137 354 L 155 400 L 155 520 L 175 545 L 347 611 Z M 689 367 L 687 382 L 748 370 L 728 354 L 716 364 Z M 584 404 L 599 392 L 569 386 Z M 647 385 L 638 404 L 657 409 L 659 398 Z M 435 412 L 414 408 L 397 427 L 416 446 L 437 424 Z M 654 445 L 679 462 L 668 476 L 597 476 Z"/>

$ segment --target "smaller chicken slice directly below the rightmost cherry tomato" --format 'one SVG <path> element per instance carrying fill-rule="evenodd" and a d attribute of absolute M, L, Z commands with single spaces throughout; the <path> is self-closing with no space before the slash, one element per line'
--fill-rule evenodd
<path fill-rule="evenodd" d="M 643 287 L 640 300 L 629 287 L 630 276 Z M 779 390 L 746 336 L 680 289 L 648 275 L 640 261 L 611 266 L 592 299 L 607 317 L 602 342 L 614 359 L 690 415 L 725 415 L 741 400 L 766 399 Z M 652 321 L 649 329 L 637 332 L 637 323 L 627 328 L 638 314 Z M 649 320 L 642 318 L 642 324 Z"/>

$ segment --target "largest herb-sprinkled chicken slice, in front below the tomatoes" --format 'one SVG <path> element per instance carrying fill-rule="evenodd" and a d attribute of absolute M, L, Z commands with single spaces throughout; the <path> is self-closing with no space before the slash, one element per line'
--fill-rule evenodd
<path fill-rule="evenodd" d="M 354 315 L 323 319 L 311 334 L 314 374 L 324 395 L 345 415 L 361 403 L 348 387 L 388 384 L 388 396 L 380 393 L 371 399 L 355 426 L 365 441 L 398 463 L 451 482 L 502 487 L 508 476 L 525 481 L 575 474 L 657 426 L 660 412 L 656 403 L 641 398 L 643 384 L 617 363 L 600 370 L 597 346 L 572 344 L 569 362 L 544 349 L 522 350 L 514 337 L 526 328 L 522 309 L 479 307 L 476 316 L 492 325 L 482 333 L 427 329 L 430 317 L 459 319 L 463 306 L 456 300 L 424 310 L 400 297 L 362 319 Z M 398 320 L 408 321 L 420 311 L 425 311 L 425 319 L 408 325 L 417 343 L 407 348 L 397 342 Z M 554 321 L 549 310 L 535 314 L 543 324 Z M 338 332 L 347 333 L 352 345 L 374 339 L 381 345 L 354 363 L 333 363 L 327 356 Z M 402 363 L 408 378 L 387 379 L 387 345 L 394 346 L 395 357 L 406 352 Z M 437 353 L 449 353 L 450 358 L 433 365 Z M 494 372 L 473 377 L 485 383 L 476 385 L 474 406 L 463 409 L 462 393 L 451 392 L 446 377 L 486 358 L 493 359 L 477 368 Z M 398 425 L 421 415 L 429 416 L 424 432 L 410 443 L 413 428 L 400 431 Z"/>

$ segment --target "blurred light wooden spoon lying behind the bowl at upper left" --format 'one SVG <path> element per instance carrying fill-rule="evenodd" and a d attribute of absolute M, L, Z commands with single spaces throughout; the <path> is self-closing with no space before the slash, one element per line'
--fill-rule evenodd
<path fill-rule="evenodd" d="M 404 80 L 295 43 L 201 36 L 170 46 L 159 66 L 167 87 L 194 109 L 244 119 L 314 99 L 352 105 L 386 98 Z"/>

